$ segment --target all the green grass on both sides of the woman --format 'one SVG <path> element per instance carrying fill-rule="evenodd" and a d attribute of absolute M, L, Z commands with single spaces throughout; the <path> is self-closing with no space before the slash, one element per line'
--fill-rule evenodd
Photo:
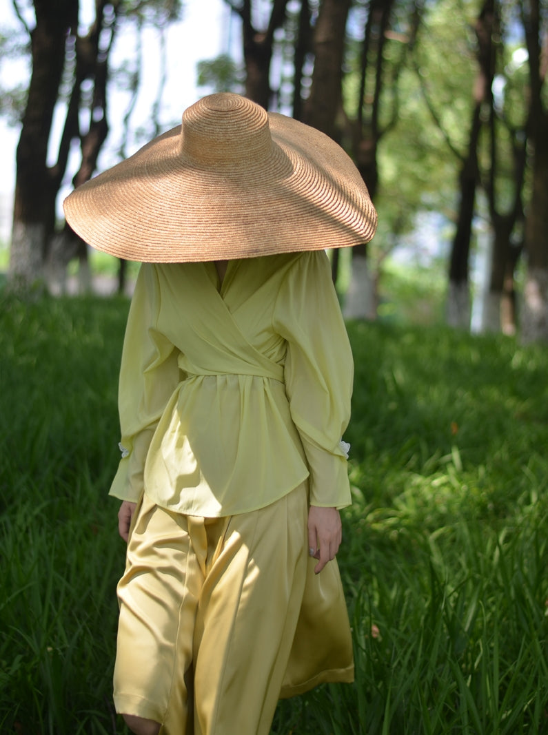
<path fill-rule="evenodd" d="M 0 732 L 124 733 L 116 388 L 128 303 L 0 302 Z M 351 323 L 339 554 L 354 685 L 273 733 L 548 733 L 548 351 Z M 237 707 L 237 703 L 235 703 Z"/>

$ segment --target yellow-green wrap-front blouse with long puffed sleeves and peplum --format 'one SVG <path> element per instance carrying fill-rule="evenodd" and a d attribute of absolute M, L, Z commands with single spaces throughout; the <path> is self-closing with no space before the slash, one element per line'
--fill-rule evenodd
<path fill-rule="evenodd" d="M 129 309 L 110 495 L 218 517 L 310 478 L 310 504 L 350 503 L 353 362 L 324 251 L 144 263 Z"/>

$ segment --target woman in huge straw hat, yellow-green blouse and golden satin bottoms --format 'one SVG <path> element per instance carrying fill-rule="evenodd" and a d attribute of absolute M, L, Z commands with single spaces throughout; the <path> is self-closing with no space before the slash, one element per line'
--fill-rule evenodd
<path fill-rule="evenodd" d="M 75 190 L 68 223 L 143 262 L 121 362 L 116 710 L 137 734 L 268 733 L 352 681 L 335 554 L 352 354 L 326 247 L 376 214 L 339 146 L 222 93 Z"/>

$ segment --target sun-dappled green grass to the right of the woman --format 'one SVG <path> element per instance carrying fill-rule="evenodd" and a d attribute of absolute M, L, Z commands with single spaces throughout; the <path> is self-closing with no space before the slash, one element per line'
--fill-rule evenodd
<path fill-rule="evenodd" d="M 546 733 L 547 351 L 349 332 L 355 503 L 339 563 L 356 682 L 287 705 L 277 732 Z"/>

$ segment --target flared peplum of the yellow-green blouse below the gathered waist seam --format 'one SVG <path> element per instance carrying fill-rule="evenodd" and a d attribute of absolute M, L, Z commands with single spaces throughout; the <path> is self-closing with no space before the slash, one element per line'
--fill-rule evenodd
<path fill-rule="evenodd" d="M 144 484 L 176 512 L 217 517 L 266 506 L 308 476 L 285 384 L 191 373 L 160 417 Z"/>

